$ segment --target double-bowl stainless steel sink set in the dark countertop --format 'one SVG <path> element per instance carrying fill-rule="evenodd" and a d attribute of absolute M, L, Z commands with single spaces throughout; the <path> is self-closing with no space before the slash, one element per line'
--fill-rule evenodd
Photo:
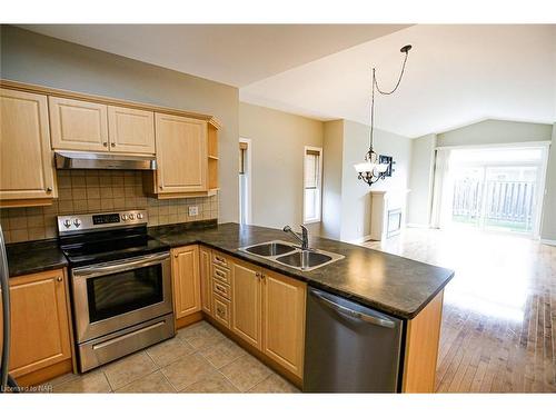
<path fill-rule="evenodd" d="M 310 271 L 344 258 L 342 255 L 319 249 L 304 250 L 299 246 L 282 240 L 247 246 L 239 250 L 304 271 Z"/>

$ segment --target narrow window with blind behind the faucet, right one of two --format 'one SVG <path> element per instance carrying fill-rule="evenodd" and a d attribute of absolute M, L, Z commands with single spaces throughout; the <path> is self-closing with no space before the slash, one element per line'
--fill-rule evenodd
<path fill-rule="evenodd" d="M 320 221 L 322 149 L 305 148 L 304 222 Z"/>

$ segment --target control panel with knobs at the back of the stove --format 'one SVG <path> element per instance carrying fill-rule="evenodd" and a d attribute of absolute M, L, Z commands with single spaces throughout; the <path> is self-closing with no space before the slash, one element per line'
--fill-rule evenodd
<path fill-rule="evenodd" d="M 126 210 L 58 216 L 58 235 L 95 231 L 116 227 L 142 226 L 148 222 L 147 210 Z"/>

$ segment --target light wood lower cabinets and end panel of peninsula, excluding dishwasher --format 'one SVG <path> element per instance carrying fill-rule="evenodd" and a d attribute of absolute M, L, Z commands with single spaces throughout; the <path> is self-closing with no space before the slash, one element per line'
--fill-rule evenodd
<path fill-rule="evenodd" d="M 226 328 L 222 331 L 301 386 L 307 285 L 202 246 L 196 248 L 172 250 L 178 255 L 172 264 L 175 291 L 181 291 L 175 292 L 177 317 L 202 306 L 214 324 Z M 200 274 L 195 274 L 196 268 Z M 195 284 L 199 275 L 200 284 Z M 403 393 L 434 393 L 443 297 L 440 291 L 404 324 Z"/>

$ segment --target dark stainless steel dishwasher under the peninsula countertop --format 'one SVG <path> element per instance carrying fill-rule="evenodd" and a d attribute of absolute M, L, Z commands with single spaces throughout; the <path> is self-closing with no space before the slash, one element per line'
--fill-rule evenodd
<path fill-rule="evenodd" d="M 401 320 L 309 287 L 304 391 L 396 393 Z"/>

